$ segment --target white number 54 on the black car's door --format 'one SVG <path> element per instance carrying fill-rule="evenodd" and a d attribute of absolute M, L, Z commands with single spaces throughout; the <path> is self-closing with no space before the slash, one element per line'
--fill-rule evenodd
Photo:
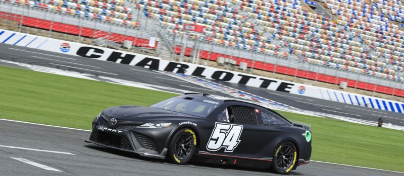
<path fill-rule="evenodd" d="M 239 139 L 242 130 L 242 125 L 216 122 L 206 148 L 210 151 L 218 151 L 223 147 L 225 152 L 233 152 L 241 141 Z"/>

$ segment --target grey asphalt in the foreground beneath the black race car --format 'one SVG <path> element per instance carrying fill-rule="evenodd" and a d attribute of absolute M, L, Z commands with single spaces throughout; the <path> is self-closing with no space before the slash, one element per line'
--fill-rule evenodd
<path fill-rule="evenodd" d="M 267 170 L 190 162 L 167 163 L 94 144 L 90 132 L 0 120 L 0 175 L 278 175 Z M 49 150 L 33 151 L 4 146 Z M 13 158 L 28 159 L 60 171 L 45 170 Z M 402 173 L 311 162 L 289 175 L 404 175 Z"/>

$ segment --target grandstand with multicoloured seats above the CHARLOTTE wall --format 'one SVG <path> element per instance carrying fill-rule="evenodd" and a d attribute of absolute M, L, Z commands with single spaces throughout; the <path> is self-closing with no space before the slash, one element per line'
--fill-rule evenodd
<path fill-rule="evenodd" d="M 129 40 L 166 59 L 226 58 L 261 73 L 346 81 L 404 97 L 402 6 L 398 0 L 0 0 L 0 20 L 17 25 L 14 30 L 67 34 L 61 38 L 70 41 Z M 206 31 L 192 35 L 184 24 Z"/>

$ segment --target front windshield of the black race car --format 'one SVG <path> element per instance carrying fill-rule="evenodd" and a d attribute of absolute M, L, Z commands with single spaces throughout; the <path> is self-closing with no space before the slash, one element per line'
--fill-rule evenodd
<path fill-rule="evenodd" d="M 169 111 L 207 117 L 222 102 L 208 100 L 204 97 L 192 97 L 188 95 L 174 97 L 163 102 L 151 105 L 153 108 L 160 108 Z"/>

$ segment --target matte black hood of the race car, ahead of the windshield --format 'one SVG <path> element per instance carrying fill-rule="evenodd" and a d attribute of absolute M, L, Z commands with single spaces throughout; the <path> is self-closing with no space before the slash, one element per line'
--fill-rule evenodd
<path fill-rule="evenodd" d="M 168 111 L 153 107 L 143 107 L 143 106 L 119 106 L 108 108 L 104 110 L 104 114 L 114 118 L 120 119 L 139 119 L 147 117 L 160 117 L 160 116 L 171 116 L 171 117 L 196 117 L 188 114 Z"/>

